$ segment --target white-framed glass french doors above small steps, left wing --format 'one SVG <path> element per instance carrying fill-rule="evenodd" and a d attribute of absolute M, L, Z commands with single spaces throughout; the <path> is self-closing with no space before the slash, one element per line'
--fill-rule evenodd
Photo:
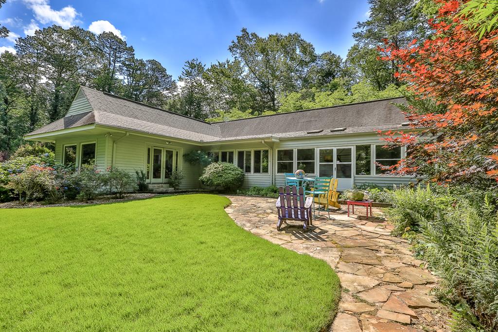
<path fill-rule="evenodd" d="M 162 147 L 147 147 L 147 179 L 151 183 L 167 183 L 176 167 L 174 150 Z"/>

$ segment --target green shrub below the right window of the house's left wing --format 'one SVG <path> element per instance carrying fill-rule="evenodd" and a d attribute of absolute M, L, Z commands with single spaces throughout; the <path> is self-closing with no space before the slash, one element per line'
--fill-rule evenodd
<path fill-rule="evenodd" d="M 78 172 L 73 174 L 71 180 L 79 185 L 78 196 L 90 200 L 103 191 L 108 182 L 108 176 L 95 166 L 83 165 Z"/>

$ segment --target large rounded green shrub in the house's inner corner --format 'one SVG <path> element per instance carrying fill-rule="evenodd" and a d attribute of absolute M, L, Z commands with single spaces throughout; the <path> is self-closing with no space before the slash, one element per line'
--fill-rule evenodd
<path fill-rule="evenodd" d="M 204 167 L 199 179 L 207 186 L 231 191 L 244 182 L 244 171 L 232 163 L 213 163 Z"/>

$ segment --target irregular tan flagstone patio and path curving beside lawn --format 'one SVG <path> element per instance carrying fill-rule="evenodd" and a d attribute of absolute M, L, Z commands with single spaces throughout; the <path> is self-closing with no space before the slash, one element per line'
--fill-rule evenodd
<path fill-rule="evenodd" d="M 342 295 L 330 331 L 449 331 L 445 308 L 430 295 L 437 279 L 420 268 L 406 240 L 390 235 L 393 227 L 379 209 L 367 218 L 365 208 L 357 207 L 348 217 L 343 206 L 331 220 L 322 212 L 309 231 L 297 223 L 277 231 L 275 198 L 228 198 L 232 205 L 226 211 L 239 226 L 335 269 Z"/>

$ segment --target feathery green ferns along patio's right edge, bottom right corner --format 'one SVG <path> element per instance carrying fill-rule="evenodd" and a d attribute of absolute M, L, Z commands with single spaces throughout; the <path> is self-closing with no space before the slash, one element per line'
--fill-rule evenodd
<path fill-rule="evenodd" d="M 455 326 L 497 331 L 496 206 L 489 199 L 480 207 L 463 200 L 434 218 L 414 216 L 422 231 L 417 248 L 430 269 L 442 277 L 439 295 L 457 311 Z"/>

